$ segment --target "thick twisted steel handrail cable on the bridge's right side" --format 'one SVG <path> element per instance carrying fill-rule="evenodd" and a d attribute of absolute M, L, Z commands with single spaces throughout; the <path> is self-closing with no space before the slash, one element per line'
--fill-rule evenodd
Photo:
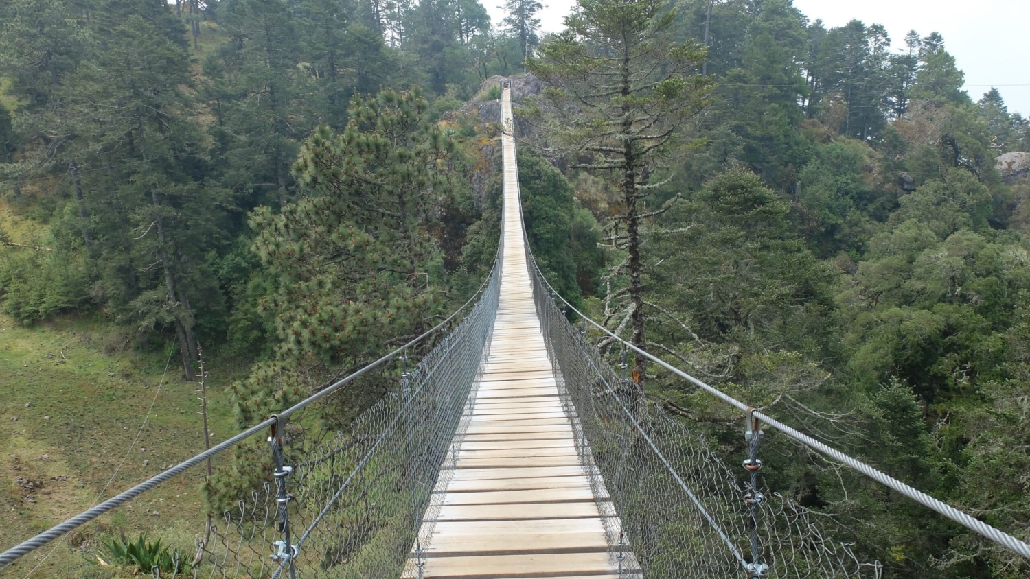
<path fill-rule="evenodd" d="M 650 361 L 658 364 L 659 366 L 665 368 L 666 370 L 668 370 L 668 371 L 675 373 L 676 375 L 678 375 L 678 376 L 686 379 L 687 382 L 693 384 L 694 386 L 700 388 L 705 392 L 708 392 L 709 394 L 715 396 L 716 398 L 722 400 L 723 402 L 729 404 L 730 406 L 733 406 L 734 408 L 737 408 L 737 409 L 740 409 L 742 411 L 745 411 L 745 412 L 748 411 L 748 409 L 750 407 L 747 404 L 745 404 L 744 402 L 741 402 L 740 400 L 733 398 L 732 396 L 729 396 L 728 394 L 726 394 L 726 393 L 724 393 L 724 392 L 722 392 L 722 391 L 720 391 L 720 390 L 718 390 L 718 389 L 716 389 L 716 388 L 714 388 L 712 386 L 709 386 L 708 384 L 705 384 L 703 382 L 701 382 L 701 381 L 697 379 L 696 377 L 688 374 L 687 372 L 684 372 L 683 370 L 681 370 L 681 369 L 679 369 L 679 368 L 677 368 L 677 367 L 668 364 L 664 360 L 661 360 L 660 358 L 657 358 L 656 356 L 653 356 L 652 354 L 650 354 L 650 353 L 648 353 L 648 352 L 646 352 L 644 350 L 641 350 L 640 348 L 637 348 L 632 343 L 626 341 L 625 339 L 623 339 L 623 338 L 619 337 L 618 335 L 616 335 L 615 333 L 613 333 L 611 330 L 609 330 L 605 326 L 603 326 L 603 325 L 598 324 L 597 322 L 595 322 L 595 321 L 591 320 L 590 318 L 588 318 L 585 314 L 583 314 L 582 312 L 580 312 L 579 310 L 577 310 L 575 305 L 573 305 L 572 303 L 570 303 L 568 299 L 565 299 L 564 297 L 562 297 L 561 294 L 559 294 L 551 286 L 551 284 L 547 281 L 547 279 L 544 277 L 544 275 L 540 272 L 540 267 L 537 266 L 537 261 L 536 261 L 536 259 L 533 258 L 533 254 L 531 253 L 529 254 L 529 261 L 533 264 L 534 274 L 537 277 L 540 278 L 540 280 L 543 282 L 543 284 L 546 286 L 546 288 L 550 291 L 550 293 L 554 297 L 560 299 L 565 305 L 568 305 L 573 312 L 575 312 L 577 315 L 579 315 L 585 321 L 589 322 L 591 325 L 593 325 L 594 327 L 596 327 L 597 329 L 599 329 L 602 332 L 608 334 L 610 337 L 614 338 L 615 340 L 619 341 L 620 343 L 625 345 L 627 348 L 629 348 L 630 350 L 632 350 L 637 354 L 639 354 L 641 356 L 644 356 L 648 360 L 650 360 Z M 873 468 L 873 467 L 871 467 L 871 466 L 869 466 L 869 465 L 867 465 L 867 464 L 859 461 L 858 459 L 855 459 L 853 457 L 845 455 L 840 450 L 837 450 L 837 449 L 835 449 L 835 448 L 833 448 L 833 447 L 831 447 L 831 446 L 829 446 L 827 444 L 824 444 L 824 443 L 816 440 L 815 438 L 813 438 L 813 437 L 811 437 L 811 436 L 809 436 L 809 435 L 806 435 L 806 434 L 804 434 L 804 433 L 802 433 L 802 432 L 800 432 L 798 430 L 795 430 L 795 429 L 793 429 L 793 428 L 791 428 L 791 427 L 789 427 L 789 426 L 787 426 L 787 425 L 785 425 L 785 424 L 777 421 L 776 419 L 774 419 L 771 417 L 768 417 L 768 415 L 766 415 L 766 414 L 764 414 L 762 412 L 759 412 L 759 411 L 753 411 L 753 415 L 755 418 L 761 420 L 763 423 L 767 424 L 768 426 L 770 426 L 770 427 L 775 428 L 776 430 L 782 432 L 783 434 L 787 435 L 788 437 L 793 438 L 794 440 L 800 442 L 801 444 L 804 444 L 805 446 L 809 446 L 810 448 L 812 448 L 812 449 L 814 449 L 814 450 L 816 450 L 816 451 L 818 451 L 818 453 L 820 453 L 820 454 L 822 454 L 824 456 L 830 457 L 831 459 L 833 459 L 833 460 L 835 460 L 835 461 L 837 461 L 839 463 L 843 463 L 843 464 L 845 464 L 845 465 L 853 468 L 854 470 L 856 470 L 856 471 L 864 474 L 865 476 L 868 476 L 872 480 L 876 480 L 877 482 L 879 482 L 879 483 L 881 483 L 881 484 L 883 484 L 883 485 L 885 485 L 885 486 L 887 486 L 889 488 L 897 491 L 898 493 L 904 495 L 905 497 L 912 499 L 913 501 L 916 501 L 917 503 L 919 503 L 919 504 L 921 504 L 921 505 L 923 505 L 923 506 L 925 506 L 925 507 L 927 507 L 927 508 L 929 508 L 929 509 L 931 509 L 931 510 L 933 510 L 933 511 L 935 511 L 935 512 L 937 512 L 937 513 L 939 513 L 939 514 L 941 514 L 943 516 L 947 516 L 948 518 L 954 520 L 955 522 L 958 522 L 962 527 L 965 527 L 966 529 L 968 529 L 970 531 L 978 533 L 980 535 L 982 535 L 982 536 L 990 539 L 991 541 L 994 541 L 995 543 L 998 543 L 999 545 L 1001 545 L 1001 546 L 1003 546 L 1003 547 L 1005 547 L 1005 548 L 1007 548 L 1007 549 L 1016 552 L 1017 554 L 1020 554 L 1020 555 L 1022 555 L 1022 556 L 1030 559 L 1030 544 L 1027 544 L 1026 542 L 1021 541 L 1020 539 L 1018 539 L 1018 538 L 1009 535 L 1008 533 L 1005 533 L 1004 531 L 1001 531 L 1000 529 L 992 527 L 992 526 L 990 526 L 990 524 L 988 524 L 988 523 L 986 523 L 986 522 L 984 522 L 982 520 L 977 520 L 973 516 L 971 516 L 971 515 L 969 515 L 969 514 L 967 514 L 965 512 L 962 512 L 962 511 L 956 509 L 955 507 L 949 505 L 948 503 L 945 503 L 943 501 L 940 501 L 938 499 L 934 499 L 933 497 L 927 495 L 926 493 L 923 493 L 922 491 L 919 491 L 919 490 L 917 490 L 917 488 L 915 488 L 913 486 L 909 486 L 908 484 L 905 484 L 904 482 L 901 482 L 900 480 L 898 480 L 898 479 L 896 479 L 896 478 L 888 475 L 887 473 L 885 473 L 883 471 L 880 471 L 880 470 L 878 470 L 878 469 L 876 469 L 876 468 Z"/>

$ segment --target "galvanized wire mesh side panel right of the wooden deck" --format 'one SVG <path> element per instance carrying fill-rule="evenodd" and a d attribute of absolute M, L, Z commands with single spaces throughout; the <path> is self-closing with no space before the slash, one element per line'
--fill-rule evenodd
<path fill-rule="evenodd" d="M 833 541 L 817 513 L 764 492 L 760 477 L 751 488 L 700 429 L 644 399 L 604 360 L 585 326 L 569 323 L 536 268 L 533 282 L 580 460 L 602 512 L 618 515 L 607 519 L 607 534 L 626 576 L 880 577 L 881 566 Z M 761 499 L 752 522 L 747 499 L 755 492 Z"/>

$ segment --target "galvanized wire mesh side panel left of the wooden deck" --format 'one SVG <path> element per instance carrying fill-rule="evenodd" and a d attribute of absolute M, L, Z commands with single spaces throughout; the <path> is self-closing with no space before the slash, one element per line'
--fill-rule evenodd
<path fill-rule="evenodd" d="M 446 485 L 453 472 L 446 467 L 454 434 L 465 430 L 499 290 L 494 274 L 472 313 L 405 371 L 396 393 L 360 414 L 348 432 L 306 450 L 282 477 L 295 548 L 275 543 L 283 539 L 277 490 L 265 483 L 224 513 L 191 574 L 396 579 L 405 566 L 417 565 L 409 555 L 432 533 L 422 519 L 435 519 L 443 497 L 433 490 Z M 269 556 L 275 552 L 288 556 L 275 560 Z"/>

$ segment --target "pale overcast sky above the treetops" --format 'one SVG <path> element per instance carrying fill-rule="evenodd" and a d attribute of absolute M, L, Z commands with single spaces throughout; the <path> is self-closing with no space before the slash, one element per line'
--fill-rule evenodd
<path fill-rule="evenodd" d="M 504 16 L 496 4 L 502 0 L 481 1 L 491 21 L 500 23 Z M 575 0 L 542 2 L 541 28 L 564 28 L 562 20 Z M 794 0 L 794 5 L 813 21 L 822 19 L 827 28 L 852 19 L 882 24 L 895 48 L 903 46 L 909 30 L 921 36 L 939 32 L 965 72 L 966 89 L 974 101 L 997 86 L 1009 111 L 1030 113 L 1030 0 Z"/>

